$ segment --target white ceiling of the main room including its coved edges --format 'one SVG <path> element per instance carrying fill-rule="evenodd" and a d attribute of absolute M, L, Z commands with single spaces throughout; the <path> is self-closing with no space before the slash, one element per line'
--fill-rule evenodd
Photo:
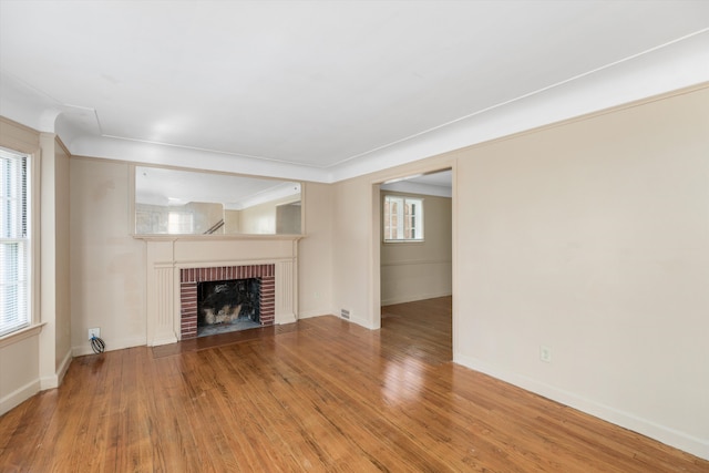
<path fill-rule="evenodd" d="M 709 81 L 709 1 L 0 0 L 0 114 L 335 182 Z"/>

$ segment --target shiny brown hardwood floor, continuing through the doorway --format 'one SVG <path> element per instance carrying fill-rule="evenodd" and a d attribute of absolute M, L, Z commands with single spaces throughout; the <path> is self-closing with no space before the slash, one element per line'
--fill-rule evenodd
<path fill-rule="evenodd" d="M 450 304 L 76 358 L 0 418 L 0 471 L 709 471 L 452 363 Z"/>

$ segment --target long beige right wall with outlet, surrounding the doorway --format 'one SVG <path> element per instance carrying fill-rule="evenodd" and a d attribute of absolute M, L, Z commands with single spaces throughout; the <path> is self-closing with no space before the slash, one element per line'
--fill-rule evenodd
<path fill-rule="evenodd" d="M 455 361 L 709 457 L 708 150 L 702 89 L 338 183 L 333 305 L 379 323 L 371 189 L 450 161 Z"/>

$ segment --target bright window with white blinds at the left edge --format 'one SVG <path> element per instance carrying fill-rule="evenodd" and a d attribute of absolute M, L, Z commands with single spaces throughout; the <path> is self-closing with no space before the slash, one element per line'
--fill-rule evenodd
<path fill-rule="evenodd" d="M 0 337 L 30 325 L 28 156 L 0 148 Z"/>

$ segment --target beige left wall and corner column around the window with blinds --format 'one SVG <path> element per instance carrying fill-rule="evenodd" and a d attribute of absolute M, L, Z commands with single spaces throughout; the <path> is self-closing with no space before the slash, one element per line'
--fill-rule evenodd
<path fill-rule="evenodd" d="M 4 119 L 0 119 L 0 146 L 33 155 L 32 311 L 37 323 L 0 339 L 2 414 L 40 389 L 61 383 L 71 362 L 71 302 L 69 157 L 54 134 L 40 134 Z"/>

